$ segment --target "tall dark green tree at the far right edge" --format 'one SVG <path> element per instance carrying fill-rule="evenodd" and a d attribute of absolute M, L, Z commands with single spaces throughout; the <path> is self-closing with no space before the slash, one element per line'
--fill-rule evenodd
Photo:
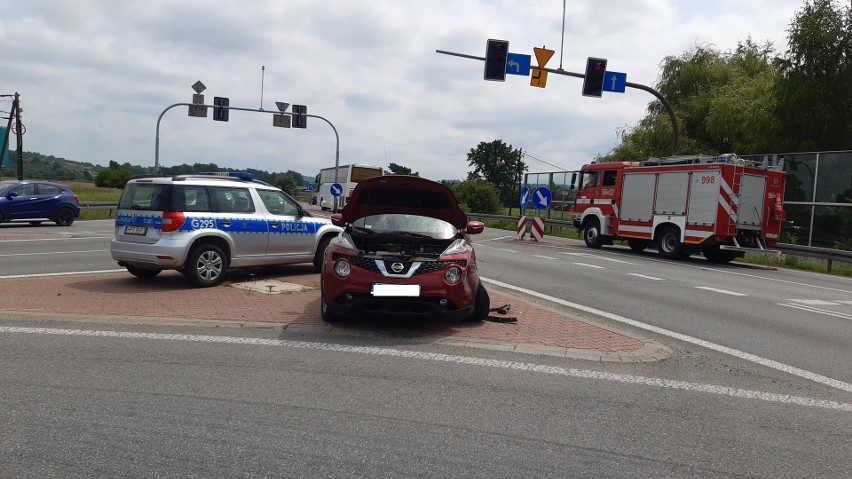
<path fill-rule="evenodd" d="M 782 147 L 852 148 L 852 9 L 808 0 L 790 24 L 787 41 L 775 89 Z"/>

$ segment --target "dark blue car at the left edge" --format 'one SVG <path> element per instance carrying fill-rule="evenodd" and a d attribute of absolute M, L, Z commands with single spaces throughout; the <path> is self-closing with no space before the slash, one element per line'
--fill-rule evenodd
<path fill-rule="evenodd" d="M 0 181 L 0 223 L 44 220 L 70 226 L 80 217 L 79 197 L 66 185 L 47 181 Z"/>

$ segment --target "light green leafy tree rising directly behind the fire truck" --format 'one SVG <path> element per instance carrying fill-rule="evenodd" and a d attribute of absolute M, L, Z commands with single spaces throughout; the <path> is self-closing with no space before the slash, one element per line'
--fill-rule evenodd
<path fill-rule="evenodd" d="M 772 45 L 751 38 L 732 52 L 695 45 L 663 60 L 657 90 L 675 110 L 676 153 L 740 154 L 776 150 L 780 130 L 773 85 L 778 68 Z M 636 161 L 672 154 L 671 121 L 659 101 L 633 127 L 620 130 L 621 144 L 601 161 Z"/>

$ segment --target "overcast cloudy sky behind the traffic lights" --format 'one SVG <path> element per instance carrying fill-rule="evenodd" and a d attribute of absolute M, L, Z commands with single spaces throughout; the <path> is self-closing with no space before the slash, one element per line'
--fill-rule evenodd
<path fill-rule="evenodd" d="M 547 162 L 527 158 L 530 171 L 553 171 L 608 152 L 653 98 L 635 89 L 587 98 L 582 79 L 553 74 L 544 89 L 521 76 L 486 82 L 483 62 L 436 50 L 482 57 L 487 39 L 503 39 L 513 53 L 555 50 L 549 68 L 582 73 L 587 57 L 602 57 L 654 85 L 663 58 L 696 43 L 730 50 L 750 36 L 784 51 L 801 5 L 570 0 L 563 48 L 560 0 L 8 1 L 0 94 L 21 95 L 25 151 L 99 165 L 153 166 L 158 117 L 190 102 L 200 80 L 207 104 L 306 105 L 337 129 L 340 164 L 464 179 L 468 151 L 501 139 Z M 159 161 L 313 176 L 334 165 L 335 144 L 315 118 L 288 130 L 268 112 L 231 111 L 224 123 L 175 107 L 160 122 Z"/>

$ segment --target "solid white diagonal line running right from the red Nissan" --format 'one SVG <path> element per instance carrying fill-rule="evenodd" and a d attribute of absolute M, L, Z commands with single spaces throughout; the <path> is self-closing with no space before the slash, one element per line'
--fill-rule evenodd
<path fill-rule="evenodd" d="M 541 298 L 547 301 L 551 301 L 553 303 L 561 304 L 563 306 L 567 306 L 569 308 L 578 309 L 580 311 L 585 311 L 587 313 L 595 314 L 598 316 L 602 316 L 607 319 L 611 319 L 613 321 L 618 321 L 619 323 L 629 324 L 635 328 L 644 329 L 646 331 L 651 331 L 653 333 L 662 334 L 663 336 L 668 336 L 671 338 L 679 339 L 681 341 L 695 344 L 697 346 L 701 346 L 707 349 L 712 349 L 713 351 L 718 351 L 720 353 L 729 354 L 731 356 L 743 359 L 745 361 L 751 361 L 753 363 L 760 364 L 762 366 L 766 366 L 768 368 L 777 369 L 779 371 L 784 371 L 785 373 L 792 374 L 794 376 L 799 376 L 801 378 L 805 378 L 814 382 L 818 382 L 821 384 L 826 384 L 833 388 L 842 389 L 844 391 L 852 392 L 852 384 L 847 382 L 843 382 L 837 379 L 830 378 L 828 376 L 823 376 L 821 374 L 817 374 L 811 371 L 806 371 L 801 368 L 797 368 L 794 366 L 790 366 L 778 361 L 774 361 L 772 359 L 766 359 L 755 354 L 746 353 L 744 351 L 740 351 L 734 348 L 729 348 L 727 346 L 722 346 L 721 344 L 711 343 L 710 341 L 705 341 L 703 339 L 694 338 L 692 336 L 687 336 L 686 334 L 677 333 L 670 329 L 660 328 L 657 326 L 653 326 L 650 324 L 646 324 L 640 321 L 636 321 L 635 319 L 625 318 L 624 316 L 619 316 L 617 314 L 608 313 L 606 311 L 601 311 L 600 309 L 590 308 L 588 306 L 583 306 L 582 304 L 572 303 L 570 301 L 565 301 L 564 299 L 554 298 L 553 296 L 548 296 L 543 293 L 539 293 L 538 291 L 533 291 L 527 288 L 521 288 L 519 286 L 514 286 L 511 284 L 504 283 L 502 281 L 497 281 L 493 279 L 483 278 L 480 276 L 480 279 L 485 281 L 486 283 L 494 284 L 497 286 L 501 286 L 506 289 L 511 289 L 514 291 L 518 291 L 520 293 L 528 294 L 530 296 L 535 296 L 536 298 Z"/>

